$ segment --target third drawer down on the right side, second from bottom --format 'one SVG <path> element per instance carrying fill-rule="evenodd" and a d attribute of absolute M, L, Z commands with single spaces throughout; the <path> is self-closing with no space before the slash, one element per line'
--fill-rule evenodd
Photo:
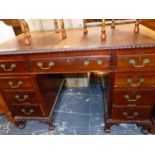
<path fill-rule="evenodd" d="M 153 105 L 155 103 L 155 91 L 153 90 L 114 90 L 115 105 Z"/>

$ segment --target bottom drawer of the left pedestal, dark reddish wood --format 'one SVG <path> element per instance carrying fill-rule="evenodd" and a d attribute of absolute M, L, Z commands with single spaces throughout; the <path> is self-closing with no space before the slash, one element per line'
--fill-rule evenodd
<path fill-rule="evenodd" d="M 42 112 L 39 106 L 13 106 L 14 116 L 39 117 Z"/>

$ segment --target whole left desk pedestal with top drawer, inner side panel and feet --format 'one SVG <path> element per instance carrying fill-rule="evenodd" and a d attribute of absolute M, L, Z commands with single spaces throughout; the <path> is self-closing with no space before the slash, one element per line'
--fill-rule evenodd
<path fill-rule="evenodd" d="M 0 89 L 16 124 L 23 128 L 25 121 L 32 119 L 48 123 L 51 129 L 63 78 L 32 75 L 24 57 L 12 56 L 11 59 L 7 56 L 0 59 Z M 44 85 L 40 85 L 41 81 Z M 48 100 L 47 95 L 50 96 Z"/>

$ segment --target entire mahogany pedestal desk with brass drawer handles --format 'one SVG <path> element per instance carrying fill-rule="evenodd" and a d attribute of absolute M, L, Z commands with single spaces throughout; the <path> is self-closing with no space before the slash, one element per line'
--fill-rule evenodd
<path fill-rule="evenodd" d="M 22 36 L 0 45 L 0 89 L 20 127 L 34 119 L 52 124 L 64 73 L 106 72 L 105 131 L 113 124 L 136 123 L 151 128 L 155 103 L 155 32 L 134 24 L 67 30 L 67 39 L 51 32 L 32 33 L 26 46 Z M 103 104 L 103 103 L 101 103 Z M 23 124 L 22 124 L 23 123 Z M 22 126 L 23 125 L 23 126 Z"/>

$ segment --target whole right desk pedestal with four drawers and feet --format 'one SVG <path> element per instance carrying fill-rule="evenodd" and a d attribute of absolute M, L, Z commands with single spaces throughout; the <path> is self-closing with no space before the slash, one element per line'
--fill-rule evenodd
<path fill-rule="evenodd" d="M 116 56 L 111 120 L 107 121 L 107 131 L 110 123 L 136 123 L 143 127 L 143 132 L 150 130 L 155 104 L 155 74 L 152 69 L 155 55 L 142 52 Z"/>

